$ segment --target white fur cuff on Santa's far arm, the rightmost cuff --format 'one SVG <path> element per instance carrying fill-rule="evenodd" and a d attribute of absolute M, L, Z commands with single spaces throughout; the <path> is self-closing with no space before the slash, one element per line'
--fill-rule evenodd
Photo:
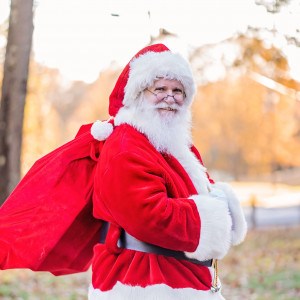
<path fill-rule="evenodd" d="M 215 183 L 215 187 L 221 189 L 227 196 L 229 202 L 229 210 L 232 216 L 233 230 L 232 230 L 232 244 L 240 244 L 247 233 L 247 223 L 242 209 L 241 202 L 235 195 L 231 186 L 225 182 Z"/>

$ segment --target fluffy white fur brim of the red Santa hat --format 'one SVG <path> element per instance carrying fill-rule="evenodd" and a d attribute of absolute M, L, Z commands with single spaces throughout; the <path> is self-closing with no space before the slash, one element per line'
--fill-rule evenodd
<path fill-rule="evenodd" d="M 124 106 L 130 105 L 140 92 L 152 86 L 159 78 L 176 79 L 181 82 L 186 94 L 186 103 L 192 103 L 196 84 L 189 63 L 181 55 L 171 51 L 149 51 L 130 62 Z"/>

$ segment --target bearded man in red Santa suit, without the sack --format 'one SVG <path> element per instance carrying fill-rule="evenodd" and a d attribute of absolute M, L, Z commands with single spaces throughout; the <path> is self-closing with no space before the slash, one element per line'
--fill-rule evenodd
<path fill-rule="evenodd" d="M 244 239 L 246 222 L 192 145 L 195 90 L 188 63 L 164 45 L 120 75 L 95 175 L 94 216 L 109 229 L 94 248 L 89 299 L 224 299 L 211 260 Z"/>

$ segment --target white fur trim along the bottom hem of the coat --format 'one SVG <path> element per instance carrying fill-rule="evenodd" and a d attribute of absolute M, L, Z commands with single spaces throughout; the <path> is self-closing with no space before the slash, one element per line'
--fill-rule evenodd
<path fill-rule="evenodd" d="M 173 289 L 166 284 L 148 285 L 146 287 L 130 286 L 117 282 L 112 290 L 102 292 L 90 285 L 89 300 L 225 300 L 221 291 L 212 293 L 192 288 Z"/>

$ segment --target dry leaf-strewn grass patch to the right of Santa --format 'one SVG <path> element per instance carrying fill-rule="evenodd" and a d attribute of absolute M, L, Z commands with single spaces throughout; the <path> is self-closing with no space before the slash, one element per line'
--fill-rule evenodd
<path fill-rule="evenodd" d="M 220 262 L 227 299 L 300 299 L 300 231 L 250 231 Z"/>

